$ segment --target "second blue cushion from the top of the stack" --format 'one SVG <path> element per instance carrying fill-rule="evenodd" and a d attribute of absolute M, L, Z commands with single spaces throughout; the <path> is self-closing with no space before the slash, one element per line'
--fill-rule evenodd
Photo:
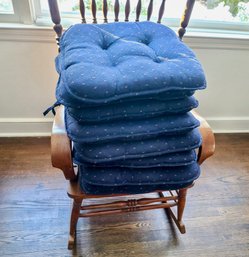
<path fill-rule="evenodd" d="M 198 101 L 192 97 L 173 100 L 136 100 L 122 101 L 97 107 L 67 108 L 70 116 L 78 121 L 103 122 L 110 120 L 134 120 L 150 118 L 162 114 L 186 113 L 198 106 Z"/>

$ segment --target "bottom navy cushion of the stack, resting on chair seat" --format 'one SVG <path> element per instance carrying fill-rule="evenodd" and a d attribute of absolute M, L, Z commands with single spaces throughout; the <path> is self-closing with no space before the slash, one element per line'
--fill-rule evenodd
<path fill-rule="evenodd" d="M 147 193 L 155 190 L 179 189 L 200 175 L 197 163 L 168 168 L 96 168 L 81 165 L 81 189 L 88 194 Z"/>

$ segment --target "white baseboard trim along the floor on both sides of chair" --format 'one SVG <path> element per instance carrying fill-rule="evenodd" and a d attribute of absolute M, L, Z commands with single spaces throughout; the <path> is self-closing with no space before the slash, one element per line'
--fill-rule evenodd
<path fill-rule="evenodd" d="M 206 117 L 215 133 L 249 133 L 249 117 Z M 0 137 L 47 137 L 53 118 L 0 118 Z"/>

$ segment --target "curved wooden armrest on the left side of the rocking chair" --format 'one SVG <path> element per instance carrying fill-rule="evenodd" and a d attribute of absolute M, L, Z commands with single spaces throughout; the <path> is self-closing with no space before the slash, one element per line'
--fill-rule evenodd
<path fill-rule="evenodd" d="M 67 136 L 64 121 L 64 106 L 60 106 L 54 118 L 51 135 L 51 160 L 55 168 L 61 169 L 68 180 L 75 180 L 71 141 Z"/>

